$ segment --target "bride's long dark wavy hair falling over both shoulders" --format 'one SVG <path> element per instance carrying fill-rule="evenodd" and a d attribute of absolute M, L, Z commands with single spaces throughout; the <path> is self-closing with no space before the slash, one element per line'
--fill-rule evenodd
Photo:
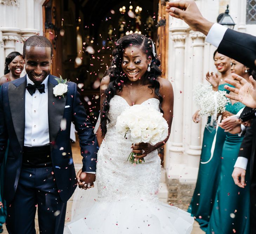
<path fill-rule="evenodd" d="M 136 46 L 146 54 L 147 58 L 151 56 L 152 62 L 150 72 L 146 71 L 142 79 L 145 85 L 149 84 L 149 88 L 152 89 L 152 92 L 153 89 L 155 89 L 155 94 L 158 96 L 160 102 L 159 109 L 163 113 L 163 109 L 161 107 L 163 97 L 159 93 L 160 83 L 158 81 L 158 77 L 162 74 L 162 72 L 159 69 L 160 60 L 156 54 L 155 46 L 152 46 L 152 43 L 153 42 L 151 39 L 138 33 L 123 36 L 116 42 L 116 48 L 112 53 L 113 59 L 110 67 L 107 69 L 107 75 L 110 77 L 110 82 L 107 89 L 104 91 L 106 98 L 103 101 L 103 108 L 100 113 L 101 131 L 103 136 L 107 132 L 107 123 L 110 121 L 107 116 L 110 108 L 110 100 L 118 92 L 122 92 L 124 83 L 128 79 L 122 69 L 123 54 L 125 48 L 127 47 Z M 153 54 L 153 49 L 155 50 L 155 56 Z"/>

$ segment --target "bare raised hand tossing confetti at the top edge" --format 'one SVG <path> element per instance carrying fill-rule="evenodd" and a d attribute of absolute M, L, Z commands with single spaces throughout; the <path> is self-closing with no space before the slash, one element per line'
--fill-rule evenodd
<path fill-rule="evenodd" d="M 199 31 L 208 34 L 212 22 L 203 18 L 195 1 L 175 1 L 168 2 L 166 12 L 172 17 L 184 20 L 193 31 Z"/>

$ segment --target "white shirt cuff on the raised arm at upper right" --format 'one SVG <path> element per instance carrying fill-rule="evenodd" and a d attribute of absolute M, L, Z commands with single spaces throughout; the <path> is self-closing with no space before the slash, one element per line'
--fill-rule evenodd
<path fill-rule="evenodd" d="M 215 23 L 214 25 L 212 25 L 208 35 L 206 36 L 205 41 L 218 48 L 227 29 L 228 28 L 224 27 L 223 25 Z"/>

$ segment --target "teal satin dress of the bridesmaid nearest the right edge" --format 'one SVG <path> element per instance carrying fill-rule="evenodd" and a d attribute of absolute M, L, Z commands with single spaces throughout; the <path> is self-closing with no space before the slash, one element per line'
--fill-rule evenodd
<path fill-rule="evenodd" d="M 244 107 L 240 102 L 228 105 L 227 111 L 236 114 Z M 219 130 L 218 130 L 219 131 Z M 222 149 L 221 172 L 217 193 L 206 234 L 248 234 L 250 231 L 250 181 L 247 166 L 245 188 L 235 185 L 232 172 L 243 136 L 227 133 Z"/>

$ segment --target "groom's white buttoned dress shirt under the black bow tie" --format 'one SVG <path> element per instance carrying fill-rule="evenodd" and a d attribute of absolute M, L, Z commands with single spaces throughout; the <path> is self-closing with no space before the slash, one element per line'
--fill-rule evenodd
<path fill-rule="evenodd" d="M 24 146 L 44 146 L 50 144 L 48 124 L 48 77 L 42 82 L 45 84 L 45 93 L 36 89 L 31 96 L 25 92 L 25 135 Z M 27 78 L 27 85 L 34 82 Z"/>

